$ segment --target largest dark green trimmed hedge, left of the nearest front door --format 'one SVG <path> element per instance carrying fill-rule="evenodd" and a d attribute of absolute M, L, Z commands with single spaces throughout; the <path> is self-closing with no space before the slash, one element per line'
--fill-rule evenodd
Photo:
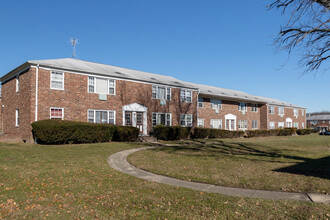
<path fill-rule="evenodd" d="M 33 136 L 38 144 L 80 144 L 114 141 L 134 141 L 139 129 L 109 124 L 92 124 L 67 120 L 33 122 Z"/>

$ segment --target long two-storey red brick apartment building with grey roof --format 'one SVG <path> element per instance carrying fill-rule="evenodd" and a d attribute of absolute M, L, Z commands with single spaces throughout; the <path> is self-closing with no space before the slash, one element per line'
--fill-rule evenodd
<path fill-rule="evenodd" d="M 32 141 L 31 123 L 65 119 L 227 130 L 304 128 L 306 109 L 240 91 L 77 59 L 28 61 L 4 75 L 1 130 Z"/>

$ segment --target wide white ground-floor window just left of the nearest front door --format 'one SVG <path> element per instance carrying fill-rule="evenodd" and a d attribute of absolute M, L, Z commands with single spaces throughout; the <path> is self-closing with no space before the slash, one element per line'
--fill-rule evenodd
<path fill-rule="evenodd" d="M 113 110 L 88 110 L 90 123 L 116 124 L 116 112 Z"/>

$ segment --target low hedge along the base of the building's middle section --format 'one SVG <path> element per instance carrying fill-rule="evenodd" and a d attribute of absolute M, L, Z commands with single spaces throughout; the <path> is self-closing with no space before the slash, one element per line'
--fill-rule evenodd
<path fill-rule="evenodd" d="M 193 138 L 238 138 L 243 137 L 244 131 L 228 131 L 213 128 L 194 128 Z"/>

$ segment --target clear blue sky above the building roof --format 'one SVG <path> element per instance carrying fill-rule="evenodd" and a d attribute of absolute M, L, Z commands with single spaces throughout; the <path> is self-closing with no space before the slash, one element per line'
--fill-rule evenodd
<path fill-rule="evenodd" d="M 265 0 L 77 0 L 0 3 L 0 75 L 27 60 L 81 60 L 330 110 L 330 73 L 302 76 L 299 53 L 275 53 L 288 17 Z M 323 95 L 322 95 L 323 94 Z"/>

